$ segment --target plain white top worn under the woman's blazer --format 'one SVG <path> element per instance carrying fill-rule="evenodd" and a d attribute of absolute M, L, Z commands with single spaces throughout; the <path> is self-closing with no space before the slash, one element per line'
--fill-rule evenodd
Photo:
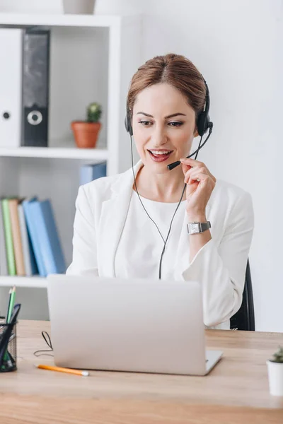
<path fill-rule="evenodd" d="M 166 240 L 170 223 L 178 206 L 177 203 L 163 203 L 141 197 L 149 216 L 158 226 Z M 159 276 L 159 262 L 164 242 L 156 225 L 149 219 L 141 205 L 137 192 L 132 191 L 127 219 L 125 221 L 115 255 L 115 276 L 120 278 L 156 278 Z M 184 221 L 186 201 L 181 201 L 174 216 L 170 235 L 166 243 L 161 265 L 161 278 L 174 280 L 177 266 L 177 249 L 180 234 L 187 231 Z M 188 235 L 187 235 L 188 236 Z M 133 240 L 137 240 L 134 243 Z M 187 254 L 189 265 L 189 252 Z"/>

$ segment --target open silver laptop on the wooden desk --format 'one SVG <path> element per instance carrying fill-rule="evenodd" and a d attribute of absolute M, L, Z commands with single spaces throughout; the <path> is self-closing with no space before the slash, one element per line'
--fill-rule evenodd
<path fill-rule="evenodd" d="M 57 366 L 206 375 L 221 351 L 205 351 L 196 281 L 53 274 L 47 277 Z"/>

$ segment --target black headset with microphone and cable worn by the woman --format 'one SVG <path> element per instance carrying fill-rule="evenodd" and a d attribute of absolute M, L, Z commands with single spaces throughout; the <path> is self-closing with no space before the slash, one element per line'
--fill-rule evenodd
<path fill-rule="evenodd" d="M 202 112 L 200 112 L 197 116 L 197 132 L 200 136 L 200 143 L 199 146 L 197 148 L 197 150 L 193 153 L 191 153 L 189 156 L 186 156 L 186 158 L 191 158 L 192 155 L 195 155 L 195 160 L 197 159 L 197 155 L 200 151 L 200 149 L 204 146 L 204 144 L 207 142 L 207 140 L 209 139 L 209 137 L 212 134 L 212 129 L 213 129 L 213 122 L 210 120 L 209 117 L 209 106 L 210 106 L 210 97 L 209 97 L 209 88 L 207 86 L 207 81 L 204 80 L 204 78 L 202 77 L 204 84 L 205 84 L 205 88 L 206 88 L 206 93 L 205 93 L 205 105 L 204 105 L 204 110 L 202 110 Z M 131 153 L 132 153 L 132 172 L 133 172 L 133 176 L 134 176 L 134 187 L 137 191 L 137 195 L 139 196 L 139 191 L 137 189 L 137 183 L 136 183 L 136 177 L 134 175 L 134 159 L 133 159 L 133 151 L 132 151 L 132 136 L 133 136 L 133 129 L 132 129 L 132 119 L 131 119 L 131 114 L 129 113 L 129 107 L 127 105 L 127 112 L 126 112 L 126 117 L 125 117 L 125 128 L 126 131 L 129 133 L 130 139 L 131 139 Z M 207 131 L 209 130 L 209 134 L 207 135 L 207 138 L 204 140 L 204 142 L 202 143 L 202 136 L 204 136 L 204 134 L 207 133 Z M 169 171 L 173 170 L 176 166 L 180 165 L 180 160 L 177 160 L 176 162 L 170 163 L 169 165 L 167 165 L 167 168 Z M 141 198 L 139 196 L 139 201 L 141 202 L 141 206 L 144 208 L 144 211 L 146 212 L 146 215 L 149 216 L 149 219 L 154 223 L 154 225 L 156 226 L 159 234 L 161 235 L 161 238 L 164 242 L 164 246 L 163 246 L 163 250 L 161 253 L 161 258 L 159 261 L 159 273 L 158 273 L 158 278 L 161 279 L 161 264 L 162 264 L 162 259 L 163 259 L 163 254 L 165 252 L 166 249 L 166 244 L 167 244 L 167 240 L 168 237 L 170 235 L 171 232 L 171 227 L 172 227 L 172 223 L 173 223 L 173 219 L 175 217 L 176 212 L 178 211 L 178 208 L 180 206 L 180 203 L 183 199 L 184 193 L 185 193 L 185 189 L 187 187 L 187 184 L 185 184 L 185 187 L 183 188 L 183 192 L 182 192 L 182 196 L 180 197 L 180 201 L 178 202 L 178 206 L 175 209 L 175 212 L 173 214 L 172 220 L 171 220 L 171 224 L 168 230 L 168 234 L 166 239 L 164 240 L 163 235 L 161 234 L 158 226 L 156 225 L 156 223 L 154 222 L 154 220 L 151 218 L 151 216 L 149 216 L 149 213 L 146 211 L 146 208 L 144 207 L 144 204 L 141 201 Z"/>

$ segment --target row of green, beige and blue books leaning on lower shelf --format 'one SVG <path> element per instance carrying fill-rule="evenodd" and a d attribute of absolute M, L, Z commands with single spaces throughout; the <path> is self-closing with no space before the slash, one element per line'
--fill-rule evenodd
<path fill-rule="evenodd" d="M 0 207 L 0 275 L 45 277 L 66 264 L 50 200 L 6 198 Z"/>

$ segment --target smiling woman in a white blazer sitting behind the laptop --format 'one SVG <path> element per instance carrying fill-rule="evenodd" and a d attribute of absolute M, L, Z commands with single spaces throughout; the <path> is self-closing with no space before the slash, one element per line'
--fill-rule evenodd
<path fill-rule="evenodd" d="M 248 192 L 185 158 L 206 94 L 201 73 L 180 55 L 154 57 L 134 74 L 127 110 L 141 160 L 80 187 L 67 273 L 200 281 L 204 324 L 229 329 L 242 301 L 253 204 Z M 194 222 L 211 228 L 188 234 Z"/>

